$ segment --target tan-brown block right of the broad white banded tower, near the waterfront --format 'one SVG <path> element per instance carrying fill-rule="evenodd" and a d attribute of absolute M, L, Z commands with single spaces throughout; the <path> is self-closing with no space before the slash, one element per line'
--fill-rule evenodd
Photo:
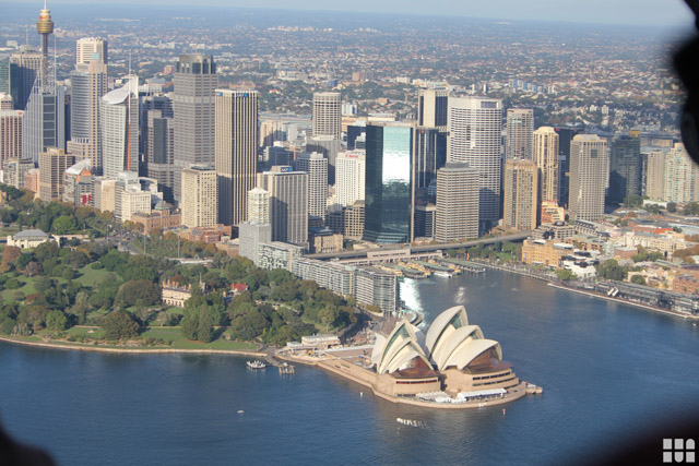
<path fill-rule="evenodd" d="M 518 230 L 533 230 L 537 225 L 538 167 L 531 160 L 505 163 L 505 204 L 502 224 Z"/>

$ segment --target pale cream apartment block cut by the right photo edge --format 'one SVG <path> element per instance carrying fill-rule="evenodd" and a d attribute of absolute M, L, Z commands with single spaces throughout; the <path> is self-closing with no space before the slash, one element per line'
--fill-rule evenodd
<path fill-rule="evenodd" d="M 664 179 L 665 201 L 699 201 L 699 166 L 691 160 L 683 143 L 675 143 L 665 156 Z"/>

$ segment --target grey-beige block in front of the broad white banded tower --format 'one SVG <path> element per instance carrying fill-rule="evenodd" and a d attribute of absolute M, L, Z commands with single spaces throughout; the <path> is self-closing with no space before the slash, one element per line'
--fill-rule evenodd
<path fill-rule="evenodd" d="M 455 162 L 437 170 L 435 224 L 437 241 L 478 237 L 478 170 Z"/>

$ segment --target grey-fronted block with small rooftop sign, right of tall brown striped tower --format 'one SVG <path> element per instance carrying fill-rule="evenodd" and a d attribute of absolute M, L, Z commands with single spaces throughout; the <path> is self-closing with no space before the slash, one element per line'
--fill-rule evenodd
<path fill-rule="evenodd" d="M 272 240 L 308 246 L 308 174 L 275 166 L 258 174 L 258 188 L 270 193 Z"/>

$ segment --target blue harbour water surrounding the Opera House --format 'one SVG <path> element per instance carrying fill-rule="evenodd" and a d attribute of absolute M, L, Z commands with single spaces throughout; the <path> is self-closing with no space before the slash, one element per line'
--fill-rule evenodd
<path fill-rule="evenodd" d="M 544 395 L 507 405 L 505 415 L 428 410 L 309 367 L 280 377 L 233 356 L 0 343 L 0 418 L 64 465 L 450 465 L 570 463 L 613 450 L 651 421 L 699 411 L 691 322 L 498 271 L 406 280 L 402 294 L 428 323 L 464 304 Z"/>

